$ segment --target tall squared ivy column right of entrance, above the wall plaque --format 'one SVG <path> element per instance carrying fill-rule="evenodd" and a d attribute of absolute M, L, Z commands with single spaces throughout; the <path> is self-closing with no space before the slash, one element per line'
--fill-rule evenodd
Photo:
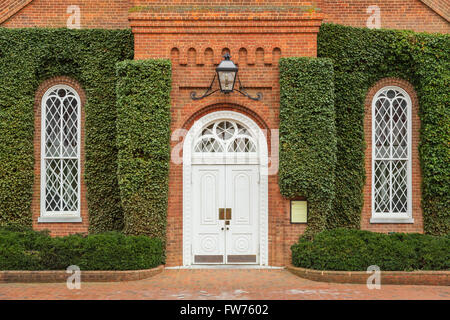
<path fill-rule="evenodd" d="M 312 235 L 326 227 L 334 198 L 336 132 L 329 59 L 280 59 L 281 194 L 308 200 Z"/>

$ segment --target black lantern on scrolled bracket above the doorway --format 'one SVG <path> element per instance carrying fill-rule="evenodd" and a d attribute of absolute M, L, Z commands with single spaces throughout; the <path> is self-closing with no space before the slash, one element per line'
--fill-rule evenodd
<path fill-rule="evenodd" d="M 245 89 L 241 84 L 241 80 L 239 79 L 239 76 L 237 75 L 237 72 L 239 69 L 234 64 L 234 62 L 231 61 L 230 54 L 227 52 L 223 57 L 224 57 L 224 60 L 222 62 L 220 62 L 220 64 L 217 66 L 216 74 L 214 75 L 214 78 L 211 81 L 209 88 L 200 97 L 197 97 L 197 93 L 191 92 L 192 100 L 203 99 L 205 97 L 212 95 L 214 92 L 217 92 L 219 90 L 225 94 L 228 94 L 233 91 L 237 91 L 240 94 L 242 94 L 252 100 L 261 100 L 261 98 L 262 98 L 261 93 L 258 92 L 256 97 L 252 97 L 247 92 L 245 92 Z M 219 81 L 219 89 L 212 90 L 214 80 L 216 80 L 216 77 Z M 236 83 L 236 78 L 239 82 L 239 89 L 234 89 L 234 84 Z"/>

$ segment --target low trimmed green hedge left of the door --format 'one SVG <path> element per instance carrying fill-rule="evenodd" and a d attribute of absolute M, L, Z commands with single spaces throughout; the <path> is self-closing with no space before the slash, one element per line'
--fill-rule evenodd
<path fill-rule="evenodd" d="M 52 238 L 46 232 L 0 229 L 0 270 L 140 270 L 164 263 L 163 242 L 119 232 Z"/>

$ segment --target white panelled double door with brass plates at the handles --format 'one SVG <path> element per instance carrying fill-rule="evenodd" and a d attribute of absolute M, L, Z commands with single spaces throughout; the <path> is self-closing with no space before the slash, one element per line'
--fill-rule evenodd
<path fill-rule="evenodd" d="M 259 264 L 258 165 L 193 165 L 195 264 Z"/>

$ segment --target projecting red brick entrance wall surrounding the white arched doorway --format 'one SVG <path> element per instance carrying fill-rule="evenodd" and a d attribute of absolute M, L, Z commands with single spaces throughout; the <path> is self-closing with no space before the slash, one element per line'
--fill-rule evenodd
<path fill-rule="evenodd" d="M 270 12 L 260 17 L 258 21 L 191 19 L 187 23 L 189 26 L 184 26 L 185 20 L 178 18 L 156 19 L 151 14 L 138 13 L 130 21 L 135 34 L 136 59 L 172 60 L 172 132 L 190 128 L 193 120 L 209 112 L 234 110 L 253 118 L 263 130 L 269 129 L 269 156 L 278 154 L 270 141 L 270 130 L 279 127 L 278 59 L 316 56 L 320 16 L 310 19 L 297 15 L 293 20 L 274 20 L 276 13 Z M 224 95 L 220 92 L 199 101 L 190 98 L 192 91 L 201 93 L 209 86 L 215 66 L 223 59 L 225 51 L 231 53 L 232 60 L 239 66 L 247 90 L 253 95 L 263 94 L 261 101 L 238 93 Z M 181 141 L 172 141 L 172 148 Z M 166 260 L 169 266 L 182 264 L 182 172 L 182 164 L 171 162 Z M 290 246 L 298 240 L 305 225 L 290 224 L 289 200 L 281 196 L 276 174 L 269 176 L 268 191 L 269 264 L 285 265 L 290 261 Z"/>

